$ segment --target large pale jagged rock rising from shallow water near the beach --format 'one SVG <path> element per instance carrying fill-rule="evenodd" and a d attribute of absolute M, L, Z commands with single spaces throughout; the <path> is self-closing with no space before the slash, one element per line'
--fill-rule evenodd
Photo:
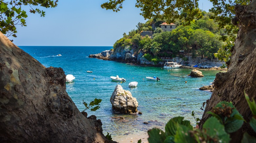
<path fill-rule="evenodd" d="M 124 90 L 121 85 L 116 86 L 110 102 L 113 109 L 120 113 L 136 113 L 138 111 L 137 99 L 132 96 L 130 91 Z"/>

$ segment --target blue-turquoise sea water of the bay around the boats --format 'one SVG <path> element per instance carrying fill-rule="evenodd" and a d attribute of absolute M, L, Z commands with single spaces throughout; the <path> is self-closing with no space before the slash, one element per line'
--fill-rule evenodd
<path fill-rule="evenodd" d="M 202 71 L 204 77 L 187 76 L 190 69 L 165 70 L 159 67 L 132 66 L 115 61 L 105 61 L 89 58 L 112 47 L 65 47 L 65 46 L 20 46 L 46 67 L 61 67 L 65 74 L 73 74 L 75 81 L 67 84 L 67 92 L 77 108 L 85 107 L 82 100 L 90 102 L 95 98 L 102 99 L 100 109 L 87 111 L 88 116 L 96 115 L 101 119 L 103 133 L 120 135 L 135 135 L 158 127 L 164 129 L 169 119 L 183 116 L 195 126 L 191 116 L 194 110 L 196 118 L 201 118 L 202 103 L 210 98 L 211 92 L 201 91 L 200 87 L 209 85 L 219 71 Z M 62 56 L 56 56 L 61 54 Z M 93 71 L 87 73 L 86 71 Z M 124 77 L 125 83 L 113 82 L 110 76 Z M 146 76 L 157 76 L 159 82 L 148 81 Z M 94 80 L 95 78 L 95 80 Z M 143 80 L 144 78 L 144 80 Z M 129 88 L 132 81 L 138 82 L 138 87 Z M 185 83 L 187 81 L 187 83 Z M 118 115 L 112 111 L 110 97 L 117 84 L 129 90 L 139 102 L 138 110 L 142 115 Z M 122 116 L 125 119 L 111 117 Z M 149 122 L 149 124 L 143 124 Z"/>

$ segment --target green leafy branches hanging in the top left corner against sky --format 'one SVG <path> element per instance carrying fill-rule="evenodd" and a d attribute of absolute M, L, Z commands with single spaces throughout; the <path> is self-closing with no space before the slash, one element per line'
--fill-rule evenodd
<path fill-rule="evenodd" d="M 45 11 L 38 7 L 54 8 L 57 2 L 53 0 L 0 0 L 0 31 L 7 37 L 17 37 L 16 26 L 27 26 L 28 17 L 25 7 L 29 7 L 30 13 L 38 13 L 41 17 L 45 16 Z"/>

